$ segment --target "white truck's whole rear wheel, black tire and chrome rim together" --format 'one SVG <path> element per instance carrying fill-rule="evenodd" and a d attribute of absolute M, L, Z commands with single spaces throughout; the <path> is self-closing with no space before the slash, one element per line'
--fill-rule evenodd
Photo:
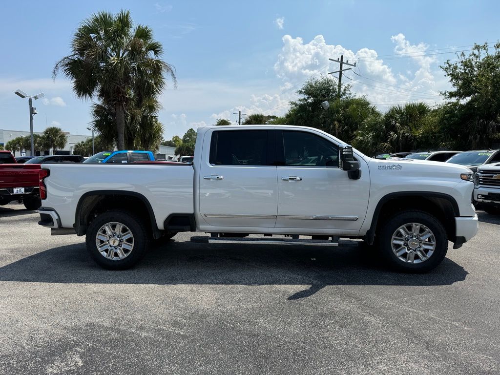
<path fill-rule="evenodd" d="M 117 224 L 122 225 L 121 229 Z M 148 245 L 148 231 L 134 214 L 113 210 L 101 213 L 90 223 L 85 243 L 90 256 L 102 268 L 127 269 L 144 255 Z M 101 253 L 97 243 L 105 255 Z"/>

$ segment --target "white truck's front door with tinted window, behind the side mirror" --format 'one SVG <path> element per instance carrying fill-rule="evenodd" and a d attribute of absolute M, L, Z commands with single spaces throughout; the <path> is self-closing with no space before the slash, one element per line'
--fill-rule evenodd
<path fill-rule="evenodd" d="M 282 134 L 282 135 L 281 135 Z M 319 132 L 283 130 L 277 134 L 278 213 L 276 227 L 359 230 L 369 193 L 367 164 L 349 179 L 338 168 L 338 145 Z M 277 156 L 279 158 L 279 156 Z"/>

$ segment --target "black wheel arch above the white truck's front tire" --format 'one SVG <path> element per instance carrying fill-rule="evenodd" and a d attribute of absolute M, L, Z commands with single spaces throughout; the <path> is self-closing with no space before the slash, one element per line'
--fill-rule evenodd
<path fill-rule="evenodd" d="M 426 206 L 422 206 L 425 204 Z M 449 194 L 436 191 L 397 191 L 384 195 L 377 203 L 371 217 L 370 228 L 366 231 L 365 240 L 373 244 L 380 222 L 391 214 L 401 210 L 417 209 L 433 214 L 441 220 L 450 241 L 456 240 L 455 216 L 459 216 L 458 203 Z M 450 219 L 451 216 L 451 219 Z"/>

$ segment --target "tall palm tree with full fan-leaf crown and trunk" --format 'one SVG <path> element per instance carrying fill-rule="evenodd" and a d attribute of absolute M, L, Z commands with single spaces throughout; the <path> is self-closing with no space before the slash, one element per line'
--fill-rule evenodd
<path fill-rule="evenodd" d="M 136 90 L 156 98 L 165 86 L 163 73 L 175 82 L 174 68 L 162 61 L 163 47 L 148 26 L 134 27 L 130 12 L 94 13 L 83 21 L 71 42 L 72 53 L 54 66 L 73 82 L 76 96 L 97 97 L 111 111 L 118 149 L 125 148 L 126 116 Z"/>

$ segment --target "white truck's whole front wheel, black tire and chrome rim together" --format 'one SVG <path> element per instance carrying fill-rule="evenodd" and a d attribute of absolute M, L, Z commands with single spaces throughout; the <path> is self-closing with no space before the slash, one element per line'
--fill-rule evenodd
<path fill-rule="evenodd" d="M 441 263 L 448 250 L 444 226 L 433 215 L 416 210 L 389 217 L 380 225 L 377 244 L 391 268 L 402 272 L 427 272 Z"/>

